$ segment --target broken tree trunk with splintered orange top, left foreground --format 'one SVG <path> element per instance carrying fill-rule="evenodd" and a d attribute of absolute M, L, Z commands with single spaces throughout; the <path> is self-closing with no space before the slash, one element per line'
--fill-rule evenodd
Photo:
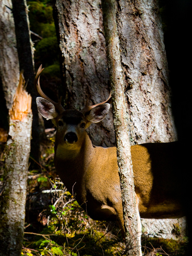
<path fill-rule="evenodd" d="M 10 109 L 9 139 L 5 149 L 3 192 L 1 194 L 1 256 L 20 256 L 24 234 L 28 160 L 31 141 L 31 96 L 23 90 L 23 78 Z"/>

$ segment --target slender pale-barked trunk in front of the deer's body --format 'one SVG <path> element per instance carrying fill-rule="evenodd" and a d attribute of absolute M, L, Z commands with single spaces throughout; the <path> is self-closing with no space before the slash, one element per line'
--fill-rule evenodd
<path fill-rule="evenodd" d="M 124 226 L 128 255 L 139 255 L 138 222 L 136 199 L 131 159 L 131 145 L 126 114 L 124 95 L 124 77 L 121 67 L 119 37 L 117 33 L 115 0 L 102 0 L 103 26 L 107 47 L 107 58 L 110 74 L 111 95 L 113 103 L 113 119 L 117 144 L 117 163 L 119 167 L 122 193 Z"/>

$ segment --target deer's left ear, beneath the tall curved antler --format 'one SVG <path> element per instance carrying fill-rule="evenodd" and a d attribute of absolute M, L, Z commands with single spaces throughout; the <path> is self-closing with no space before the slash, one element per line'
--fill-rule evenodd
<path fill-rule="evenodd" d="M 47 120 L 54 119 L 58 113 L 55 110 L 54 105 L 41 97 L 36 98 L 37 109 L 41 116 L 45 117 Z"/>

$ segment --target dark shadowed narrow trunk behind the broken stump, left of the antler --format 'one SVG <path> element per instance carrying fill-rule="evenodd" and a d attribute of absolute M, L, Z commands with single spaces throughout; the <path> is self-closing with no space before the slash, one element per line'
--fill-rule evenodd
<path fill-rule="evenodd" d="M 24 77 L 27 81 L 27 92 L 32 96 L 32 141 L 31 156 L 39 162 L 39 117 L 36 104 L 37 93 L 35 92 L 34 81 L 34 63 L 33 63 L 33 45 L 28 20 L 28 9 L 26 0 L 12 0 L 13 17 L 15 21 L 15 34 L 17 39 L 17 50 L 19 57 L 20 71 L 24 70 Z M 25 47 L 24 47 L 25 45 Z M 34 162 L 33 162 L 34 163 Z M 33 166 L 34 167 L 34 166 Z M 39 165 L 35 164 L 36 168 Z"/>

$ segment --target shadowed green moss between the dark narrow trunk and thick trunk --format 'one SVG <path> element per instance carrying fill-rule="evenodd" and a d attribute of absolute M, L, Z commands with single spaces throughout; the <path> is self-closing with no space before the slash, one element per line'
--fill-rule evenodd
<path fill-rule="evenodd" d="M 34 60 L 35 66 L 44 67 L 52 65 L 59 60 L 59 47 L 57 44 L 56 30 L 53 20 L 53 7 L 51 0 L 27 1 L 29 6 L 29 21 L 32 32 L 43 39 L 32 34 L 35 42 Z"/>

